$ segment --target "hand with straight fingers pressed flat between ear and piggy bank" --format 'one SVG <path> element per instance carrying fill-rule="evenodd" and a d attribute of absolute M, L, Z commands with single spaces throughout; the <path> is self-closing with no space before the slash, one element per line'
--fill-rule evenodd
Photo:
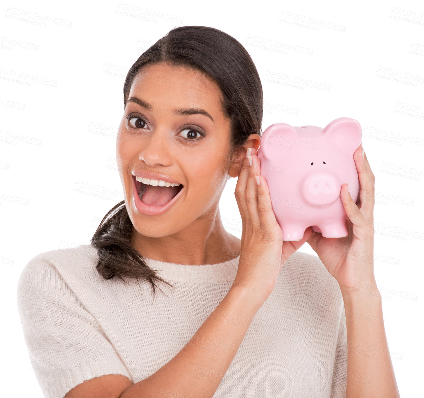
<path fill-rule="evenodd" d="M 252 165 L 249 165 L 248 157 L 243 159 L 234 192 L 243 231 L 240 261 L 233 286 L 249 285 L 251 287 L 248 289 L 265 302 L 285 262 L 309 239 L 312 228 L 305 230 L 300 241 L 282 240 L 282 231 L 272 210 L 268 184 L 260 175 L 257 151 L 249 148 L 247 155 L 249 151 Z M 259 176 L 259 185 L 255 176 Z"/>

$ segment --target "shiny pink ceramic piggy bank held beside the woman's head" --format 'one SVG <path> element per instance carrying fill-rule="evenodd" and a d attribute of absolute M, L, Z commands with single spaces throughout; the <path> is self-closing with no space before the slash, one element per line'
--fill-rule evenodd
<path fill-rule="evenodd" d="M 274 123 L 262 134 L 257 156 L 284 241 L 300 241 L 307 227 L 325 238 L 348 235 L 341 186 L 357 201 L 353 153 L 362 139 L 358 121 L 338 118 L 324 129 Z"/>

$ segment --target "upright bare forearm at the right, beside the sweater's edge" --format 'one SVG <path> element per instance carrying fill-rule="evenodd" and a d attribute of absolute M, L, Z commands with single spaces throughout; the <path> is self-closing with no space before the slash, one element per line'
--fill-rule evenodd
<path fill-rule="evenodd" d="M 342 290 L 347 331 L 346 398 L 399 398 L 375 281 Z M 369 287 L 371 286 L 371 288 Z"/>

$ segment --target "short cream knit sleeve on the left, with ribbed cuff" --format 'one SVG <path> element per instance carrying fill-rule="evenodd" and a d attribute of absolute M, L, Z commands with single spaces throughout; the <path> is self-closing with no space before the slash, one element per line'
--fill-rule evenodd
<path fill-rule="evenodd" d="M 85 380 L 131 376 L 99 322 L 53 262 L 31 259 L 17 286 L 17 305 L 32 368 L 45 397 L 62 398 Z"/>

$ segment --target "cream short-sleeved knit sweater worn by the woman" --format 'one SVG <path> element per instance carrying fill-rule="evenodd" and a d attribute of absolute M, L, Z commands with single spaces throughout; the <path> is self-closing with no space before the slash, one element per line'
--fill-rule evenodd
<path fill-rule="evenodd" d="M 165 293 L 157 290 L 153 301 L 150 283 L 141 281 L 141 292 L 136 281 L 127 286 L 117 278 L 104 280 L 97 259 L 92 245 L 51 250 L 33 257 L 20 275 L 20 319 L 45 397 L 62 398 L 84 380 L 106 374 L 137 383 L 190 339 L 201 344 L 196 331 L 229 291 L 238 266 L 238 258 L 197 266 L 148 259 L 175 286 L 159 283 Z M 295 252 L 214 398 L 344 398 L 346 380 L 346 317 L 338 283 L 317 256 Z"/>

